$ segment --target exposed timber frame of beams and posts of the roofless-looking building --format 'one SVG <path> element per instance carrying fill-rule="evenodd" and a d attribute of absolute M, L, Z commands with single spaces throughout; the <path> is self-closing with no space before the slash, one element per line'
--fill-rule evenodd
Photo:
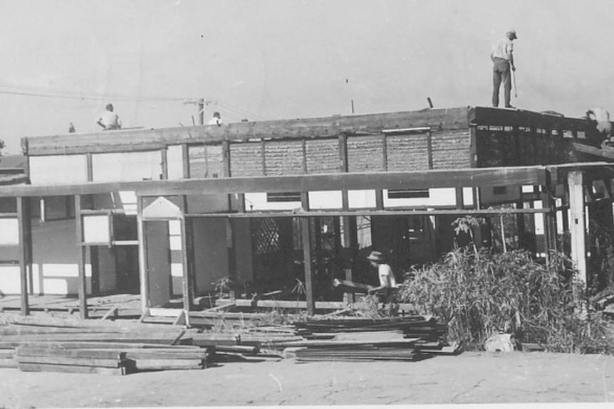
<path fill-rule="evenodd" d="M 435 216 L 435 215 L 497 215 L 497 209 L 483 208 L 477 199 L 477 188 L 493 186 L 536 186 L 534 196 L 543 203 L 541 208 L 516 206 L 508 213 L 536 214 L 545 217 L 546 249 L 558 248 L 556 240 L 557 214 L 561 215 L 564 230 L 571 233 L 571 255 L 578 264 L 581 280 L 586 282 L 586 225 L 584 225 L 585 191 L 593 179 L 612 179 L 614 165 L 610 158 L 595 155 L 595 147 L 585 143 L 590 134 L 590 124 L 584 119 L 558 117 L 537 112 L 497 110 L 485 107 L 461 107 L 449 110 L 424 110 L 418 112 L 395 112 L 372 115 L 333 116 L 311 119 L 291 119 L 263 122 L 240 122 L 222 127 L 205 125 L 168 129 L 139 129 L 113 131 L 86 135 L 57 135 L 53 137 L 28 137 L 22 139 L 24 154 L 28 159 L 36 156 L 85 155 L 87 183 L 52 185 L 0 186 L 0 197 L 17 198 L 17 212 L 0 214 L 19 219 L 21 297 L 23 314 L 28 314 L 28 275 L 31 267 L 31 230 L 28 227 L 28 206 L 24 198 L 37 196 L 73 196 L 75 201 L 79 253 L 79 299 L 80 315 L 87 317 L 85 292 L 85 247 L 81 218 L 86 213 L 81 208 L 81 197 L 93 193 L 134 191 L 137 196 L 137 219 L 139 231 L 139 257 L 141 269 L 141 295 L 143 308 L 147 308 L 147 262 L 146 243 L 143 235 L 144 199 L 160 196 L 224 194 L 238 195 L 239 206 L 217 213 L 190 213 L 183 206 L 180 216 L 184 248 L 189 245 L 189 221 L 193 218 L 300 218 L 303 224 L 302 242 L 306 277 L 306 306 L 313 314 L 316 302 L 313 290 L 312 252 L 310 250 L 309 218 L 333 216 L 343 218 L 344 224 L 352 226 L 355 216 Z M 448 155 L 447 139 L 437 137 L 447 132 L 467 135 L 460 140 L 462 157 L 455 162 L 442 161 Z M 396 135 L 420 134 L 424 137 L 426 160 L 418 169 L 398 170 L 399 164 L 390 160 L 390 139 Z M 348 139 L 370 138 L 381 156 L 377 171 L 356 171 L 349 161 Z M 446 136 L 447 137 L 447 136 Z M 373 139 L 375 138 L 375 139 Z M 464 138 L 464 137 L 462 137 Z M 523 139 L 524 138 L 524 139 Z M 338 166 L 328 172 L 313 172 L 308 166 L 309 141 L 333 140 L 338 149 Z M 366 139 L 365 139 L 366 140 Z M 276 142 L 296 141 L 302 144 L 302 165 L 297 174 L 269 174 L 266 165 L 267 147 Z M 375 142 L 373 142 L 375 141 Z M 443 141 L 443 142 L 442 142 Z M 486 142 L 484 142 L 486 141 Z M 531 156 L 518 157 L 524 149 L 523 141 L 535 144 Z M 531 142 L 536 141 L 536 142 Z M 231 154 L 234 144 L 259 144 L 261 147 L 261 174 L 235 176 Z M 507 144 L 507 145 L 506 145 Z M 510 145 L 511 144 L 511 145 Z M 222 149 L 222 172 L 217 179 L 193 177 L 189 160 L 192 147 L 219 146 Z M 510 156 L 508 146 L 516 147 L 516 156 Z M 183 179 L 168 179 L 167 149 L 182 148 Z M 577 149 L 573 149 L 573 147 Z M 440 149 L 437 151 L 437 149 Z M 443 149 L 443 150 L 441 150 Z M 493 150 L 494 149 L 494 150 Z M 499 149 L 499 150 L 497 150 Z M 557 150 L 558 149 L 558 150 Z M 160 151 L 162 180 L 97 182 L 93 178 L 92 158 L 96 154 Z M 439 152 L 439 156 L 437 156 Z M 491 155 L 491 152 L 501 152 Z M 558 152 L 558 153 L 557 153 Z M 573 156 L 566 157 L 566 153 Z M 299 157 L 301 156 L 299 154 Z M 493 160 L 493 165 L 485 166 Z M 439 158 L 439 159 L 438 159 Z M 527 159 L 528 158 L 528 159 Z M 598 158 L 600 161 L 595 161 Z M 571 162 L 571 163 L 570 163 Z M 574 163 L 575 162 L 575 163 Z M 239 172 L 239 175 L 241 173 Z M 561 205 L 556 206 L 557 188 L 564 186 L 565 193 L 559 196 Z M 415 207 L 389 209 L 383 206 L 382 192 L 385 189 L 455 188 L 453 206 L 444 208 Z M 474 194 L 472 206 L 463 200 L 463 188 L 471 188 Z M 348 206 L 348 191 L 374 190 L 375 208 L 352 209 Z M 309 206 L 309 193 L 313 191 L 340 191 L 342 206 L 327 211 L 313 210 Z M 301 193 L 301 209 L 295 211 L 247 211 L 244 206 L 246 193 Z M 614 192 L 610 192 L 614 197 Z M 185 202 L 187 203 L 187 202 Z M 520 203 L 522 204 L 522 203 Z M 569 211 L 569 218 L 566 216 Z M 355 222 L 354 222 L 355 223 Z M 347 238 L 345 238 L 347 239 Z M 351 245 L 351 238 L 348 245 Z M 562 250 L 562 249 L 561 249 Z M 186 255 L 184 254 L 184 257 Z M 192 272 L 184 259 L 183 298 L 184 309 L 192 308 L 190 288 Z M 351 279 L 351 274 L 346 275 Z"/>

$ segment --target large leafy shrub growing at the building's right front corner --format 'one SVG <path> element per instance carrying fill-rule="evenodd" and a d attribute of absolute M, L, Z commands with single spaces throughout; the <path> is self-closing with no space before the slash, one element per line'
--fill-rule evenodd
<path fill-rule="evenodd" d="M 457 248 L 412 272 L 400 297 L 441 317 L 448 341 L 482 345 L 502 331 L 549 351 L 611 351 L 600 317 L 577 314 L 587 304 L 573 273 L 570 260 L 556 252 L 545 266 L 523 250 Z"/>

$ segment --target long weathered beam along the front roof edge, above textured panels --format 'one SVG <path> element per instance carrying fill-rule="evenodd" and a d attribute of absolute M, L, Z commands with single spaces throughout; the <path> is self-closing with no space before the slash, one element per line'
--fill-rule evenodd
<path fill-rule="evenodd" d="M 248 139 L 303 139 L 338 137 L 339 134 L 378 134 L 383 129 L 432 127 L 467 129 L 467 107 L 447 110 L 389 112 L 306 119 L 281 119 L 236 122 L 194 127 L 137 129 L 68 134 L 50 137 L 24 137 L 21 141 L 28 156 L 135 152 L 162 149 L 180 144 L 221 143 Z"/>

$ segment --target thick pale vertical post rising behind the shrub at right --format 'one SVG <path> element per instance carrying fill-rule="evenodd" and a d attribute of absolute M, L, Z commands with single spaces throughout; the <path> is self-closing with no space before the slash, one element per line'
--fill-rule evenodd
<path fill-rule="evenodd" d="M 586 219 L 584 217 L 584 186 L 582 171 L 567 175 L 569 189 L 569 229 L 571 230 L 571 260 L 578 269 L 578 280 L 587 284 Z"/>

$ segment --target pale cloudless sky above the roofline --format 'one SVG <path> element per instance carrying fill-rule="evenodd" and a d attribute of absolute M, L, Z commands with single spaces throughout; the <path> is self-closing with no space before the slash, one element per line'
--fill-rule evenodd
<path fill-rule="evenodd" d="M 0 139 L 17 154 L 70 122 L 95 132 L 107 102 L 156 128 L 192 124 L 199 97 L 226 122 L 489 106 L 509 28 L 512 105 L 614 112 L 613 15 L 611 0 L 0 0 Z"/>

